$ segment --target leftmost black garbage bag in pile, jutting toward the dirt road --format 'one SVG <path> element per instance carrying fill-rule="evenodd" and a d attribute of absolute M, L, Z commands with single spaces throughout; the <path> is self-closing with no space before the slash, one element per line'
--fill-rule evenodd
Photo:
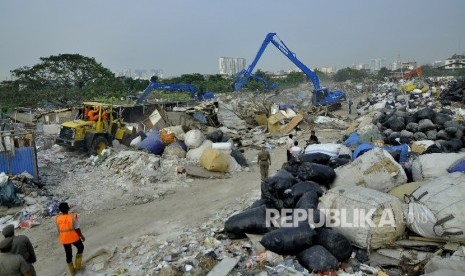
<path fill-rule="evenodd" d="M 267 227 L 266 205 L 251 208 L 229 217 L 224 223 L 224 230 L 230 238 L 244 238 L 245 233 L 263 234 L 273 230 Z"/>

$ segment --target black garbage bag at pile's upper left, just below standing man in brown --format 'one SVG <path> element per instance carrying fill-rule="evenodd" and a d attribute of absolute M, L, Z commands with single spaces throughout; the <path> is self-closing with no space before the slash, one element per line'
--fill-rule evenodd
<path fill-rule="evenodd" d="M 290 172 L 281 169 L 274 176 L 262 181 L 262 199 L 270 202 L 274 208 L 281 209 L 284 207 L 284 192 L 296 182 L 297 180 Z"/>

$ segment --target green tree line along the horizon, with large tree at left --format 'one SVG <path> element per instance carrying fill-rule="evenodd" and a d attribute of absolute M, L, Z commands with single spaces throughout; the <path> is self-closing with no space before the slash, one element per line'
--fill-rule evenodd
<path fill-rule="evenodd" d="M 422 66 L 422 69 L 425 77 L 445 74 L 444 71 L 428 65 Z M 332 75 L 318 70 L 315 73 L 321 82 L 326 83 L 327 81 L 386 80 L 390 71 L 387 68 L 382 68 L 377 74 L 369 74 L 363 70 L 343 68 Z M 271 82 L 276 82 L 278 89 L 285 89 L 309 81 L 301 72 L 291 72 L 279 79 L 272 79 L 271 75 L 261 70 L 257 70 L 254 74 L 261 77 L 262 80 L 250 78 L 242 89 L 266 90 L 266 85 Z M 465 76 L 463 70 L 457 74 Z M 0 83 L 0 108 L 2 109 L 15 107 L 60 108 L 88 100 L 134 98 L 138 97 L 138 93 L 149 84 L 148 80 L 117 77 L 94 58 L 80 54 L 41 57 L 40 62 L 32 67 L 24 66 L 12 70 L 11 79 Z M 204 76 L 193 73 L 158 81 L 166 84 L 191 84 L 199 91 L 227 93 L 234 91 L 235 80 L 219 74 Z M 189 97 L 188 93 L 186 93 L 186 97 Z"/>

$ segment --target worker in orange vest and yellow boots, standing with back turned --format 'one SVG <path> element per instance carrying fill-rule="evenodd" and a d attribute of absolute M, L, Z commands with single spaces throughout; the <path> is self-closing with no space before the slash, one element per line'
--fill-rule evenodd
<path fill-rule="evenodd" d="M 61 214 L 55 218 L 55 223 L 58 228 L 58 236 L 60 243 L 63 244 L 66 253 L 66 263 L 71 275 L 76 274 L 76 270 L 82 268 L 82 252 L 84 252 L 83 241 L 86 238 L 82 235 L 79 228 L 79 222 L 76 213 L 68 213 L 69 205 L 66 202 L 60 203 L 58 206 Z M 73 250 L 71 245 L 74 245 L 78 252 L 76 254 L 75 266 L 73 265 Z"/>

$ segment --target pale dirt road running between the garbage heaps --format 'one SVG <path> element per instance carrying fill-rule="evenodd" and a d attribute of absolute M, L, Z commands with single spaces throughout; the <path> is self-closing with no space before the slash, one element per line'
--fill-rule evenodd
<path fill-rule="evenodd" d="M 352 111 L 350 117 L 355 118 L 354 109 Z M 347 116 L 347 104 L 343 104 L 343 109 L 336 113 Z M 339 130 L 308 126 L 302 129 L 297 136 L 301 145 L 309 136 L 310 129 L 316 130 L 322 142 L 335 142 L 341 138 Z M 270 151 L 270 175 L 285 162 L 284 147 L 282 145 Z M 228 179 L 194 179 L 187 187 L 179 187 L 175 193 L 166 195 L 161 200 L 135 206 L 112 206 L 107 210 L 81 214 L 80 226 L 86 237 L 84 259 L 86 255 L 90 256 L 101 248 L 128 244 L 144 234 L 155 235 L 161 242 L 174 238 L 180 234 L 182 228 L 198 226 L 208 220 L 215 214 L 215 210 L 226 206 L 234 208 L 236 199 L 241 196 L 250 194 L 252 197 L 259 197 L 260 172 L 255 162 L 256 150 L 247 150 L 245 156 L 251 163 L 249 172 L 233 173 Z M 38 275 L 65 273 L 64 250 L 58 243 L 56 227 L 51 219 L 42 220 L 41 225 L 31 229 L 19 229 L 17 234 L 27 235 L 35 246 L 38 260 L 35 268 Z"/>

